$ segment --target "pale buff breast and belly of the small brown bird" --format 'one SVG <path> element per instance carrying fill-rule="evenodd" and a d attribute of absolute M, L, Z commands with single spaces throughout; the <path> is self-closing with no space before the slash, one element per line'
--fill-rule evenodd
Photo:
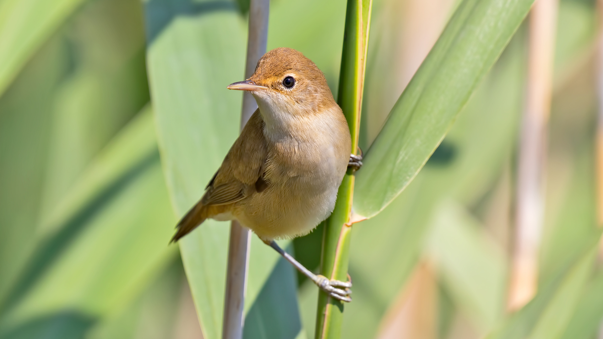
<path fill-rule="evenodd" d="M 263 174 L 268 188 L 241 201 L 239 221 L 262 239 L 306 234 L 335 207 L 350 156 L 347 122 L 339 107 L 293 116 L 262 112 L 260 106 L 260 113 L 265 119 L 268 154 Z M 285 118 L 270 121 L 277 116 Z"/>

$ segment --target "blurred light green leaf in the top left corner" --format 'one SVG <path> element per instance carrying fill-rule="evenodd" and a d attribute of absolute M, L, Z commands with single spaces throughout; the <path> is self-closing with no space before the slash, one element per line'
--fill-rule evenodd
<path fill-rule="evenodd" d="M 0 1 L 0 95 L 82 0 Z"/>

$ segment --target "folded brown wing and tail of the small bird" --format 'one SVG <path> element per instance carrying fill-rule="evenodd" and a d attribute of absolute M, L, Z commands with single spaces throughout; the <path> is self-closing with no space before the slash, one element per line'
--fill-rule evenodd
<path fill-rule="evenodd" d="M 185 236 L 215 212 L 226 211 L 227 204 L 235 203 L 254 192 L 264 191 L 264 163 L 268 157 L 264 137 L 264 120 L 259 109 L 241 131 L 219 170 L 206 186 L 206 192 L 195 206 L 180 220 L 172 241 Z M 223 208 L 212 206 L 223 206 Z"/>

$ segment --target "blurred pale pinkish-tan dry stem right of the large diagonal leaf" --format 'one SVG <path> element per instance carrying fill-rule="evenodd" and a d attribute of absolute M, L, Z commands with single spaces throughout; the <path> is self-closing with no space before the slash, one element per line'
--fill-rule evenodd
<path fill-rule="evenodd" d="M 528 303 L 537 287 L 557 7 L 558 0 L 536 0 L 530 15 L 528 91 L 519 149 L 516 235 L 508 296 L 511 311 Z"/>

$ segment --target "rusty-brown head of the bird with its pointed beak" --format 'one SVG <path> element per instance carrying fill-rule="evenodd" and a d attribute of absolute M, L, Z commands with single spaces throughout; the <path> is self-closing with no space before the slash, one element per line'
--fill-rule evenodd
<path fill-rule="evenodd" d="M 245 81 L 229 89 L 249 90 L 262 111 L 307 115 L 336 106 L 323 72 L 292 48 L 275 48 L 262 56 Z"/>

